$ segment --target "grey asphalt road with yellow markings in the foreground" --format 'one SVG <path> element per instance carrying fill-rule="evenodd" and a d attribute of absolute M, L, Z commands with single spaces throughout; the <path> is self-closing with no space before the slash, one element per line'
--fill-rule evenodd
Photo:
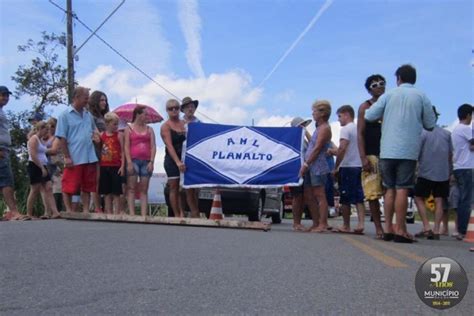
<path fill-rule="evenodd" d="M 447 311 L 472 315 L 474 244 L 376 241 L 366 226 L 356 236 L 295 233 L 289 220 L 269 232 L 1 222 L 0 314 L 432 315 L 415 292 L 415 274 L 426 259 L 447 256 L 471 281 Z"/>

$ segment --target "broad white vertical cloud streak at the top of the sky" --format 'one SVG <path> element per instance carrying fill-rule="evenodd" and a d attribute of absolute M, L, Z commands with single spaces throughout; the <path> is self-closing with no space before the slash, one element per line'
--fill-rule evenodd
<path fill-rule="evenodd" d="M 196 0 L 180 0 L 178 2 L 178 18 L 184 38 L 188 45 L 186 59 L 189 68 L 196 77 L 204 77 L 201 65 L 201 18 L 198 14 Z"/>

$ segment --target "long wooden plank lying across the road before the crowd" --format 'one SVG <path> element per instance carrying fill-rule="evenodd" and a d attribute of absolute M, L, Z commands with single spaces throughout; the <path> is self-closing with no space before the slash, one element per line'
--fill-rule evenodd
<path fill-rule="evenodd" d="M 61 217 L 71 220 L 92 220 L 103 222 L 125 222 L 158 225 L 184 225 L 199 227 L 240 228 L 268 231 L 270 223 L 248 222 L 239 220 L 210 220 L 204 218 L 176 218 L 161 216 L 131 216 L 128 214 L 104 214 L 104 213 L 67 213 L 61 212 Z"/>

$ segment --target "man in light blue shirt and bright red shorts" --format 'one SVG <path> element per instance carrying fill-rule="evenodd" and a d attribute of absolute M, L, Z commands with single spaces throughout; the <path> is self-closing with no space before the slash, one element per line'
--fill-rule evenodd
<path fill-rule="evenodd" d="M 72 212 L 72 195 L 82 191 L 82 210 L 89 212 L 90 193 L 97 190 L 97 155 L 94 144 L 100 142 L 92 115 L 85 109 L 89 89 L 76 87 L 72 106 L 58 118 L 56 137 L 64 154 L 62 190 L 64 206 Z"/>

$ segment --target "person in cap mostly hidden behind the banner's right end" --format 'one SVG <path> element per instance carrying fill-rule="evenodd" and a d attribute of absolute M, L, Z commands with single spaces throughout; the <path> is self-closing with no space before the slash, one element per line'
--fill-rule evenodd
<path fill-rule="evenodd" d="M 304 120 L 301 117 L 295 117 L 291 121 L 291 127 L 301 127 L 304 129 L 303 142 L 303 156 L 308 148 L 308 142 L 311 140 L 311 134 L 306 130 L 306 127 L 311 123 L 311 120 Z M 312 228 L 318 227 L 318 206 L 311 187 L 303 185 L 297 187 L 290 187 L 291 196 L 293 197 L 291 210 L 293 212 L 293 230 L 297 232 L 304 232 L 307 229 L 301 224 L 301 217 L 303 215 L 304 206 L 307 205 L 313 220 Z M 310 228 L 311 229 L 311 228 Z"/>

